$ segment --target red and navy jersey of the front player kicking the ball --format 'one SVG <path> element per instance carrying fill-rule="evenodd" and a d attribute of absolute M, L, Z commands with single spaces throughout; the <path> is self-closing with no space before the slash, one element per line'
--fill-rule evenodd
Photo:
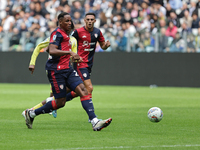
<path fill-rule="evenodd" d="M 59 27 L 51 33 L 49 44 L 57 45 L 61 51 L 71 51 L 70 37 Z M 46 63 L 46 70 L 64 70 L 70 67 L 70 55 L 50 56 Z"/>

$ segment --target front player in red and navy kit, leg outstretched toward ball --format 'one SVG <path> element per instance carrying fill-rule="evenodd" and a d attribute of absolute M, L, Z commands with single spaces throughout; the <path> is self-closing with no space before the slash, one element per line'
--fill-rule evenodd
<path fill-rule="evenodd" d="M 53 110 L 64 107 L 66 102 L 66 88 L 75 91 L 81 99 L 82 107 L 91 120 L 94 131 L 100 131 L 107 127 L 112 118 L 99 121 L 94 113 L 92 99 L 85 88 L 81 78 L 70 64 L 70 56 L 74 61 L 82 61 L 82 58 L 71 51 L 69 30 L 71 30 L 71 16 L 68 13 L 58 15 L 59 26 L 51 33 L 49 54 L 51 55 L 46 63 L 46 70 L 49 82 L 52 86 L 55 100 L 47 102 L 42 107 L 25 111 L 26 125 L 32 128 L 34 118 L 40 114 L 49 113 Z"/>

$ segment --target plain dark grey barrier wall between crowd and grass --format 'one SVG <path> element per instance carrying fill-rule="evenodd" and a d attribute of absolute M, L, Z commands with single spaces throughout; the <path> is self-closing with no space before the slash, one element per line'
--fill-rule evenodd
<path fill-rule="evenodd" d="M 48 83 L 47 54 L 39 55 L 33 75 L 28 70 L 31 52 L 0 54 L 1 83 Z M 8 59 L 9 58 L 9 59 Z M 199 87 L 200 55 L 194 53 L 96 53 L 94 85 Z"/>

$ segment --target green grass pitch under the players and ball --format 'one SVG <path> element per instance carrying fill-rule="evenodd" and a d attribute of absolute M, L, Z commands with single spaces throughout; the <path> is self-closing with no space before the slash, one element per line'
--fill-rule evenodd
<path fill-rule="evenodd" d="M 94 86 L 96 114 L 113 118 L 107 128 L 94 132 L 76 98 L 28 129 L 22 111 L 48 95 L 48 84 L 0 84 L 1 150 L 200 149 L 199 88 Z M 159 123 L 147 118 L 153 106 L 163 110 Z"/>

